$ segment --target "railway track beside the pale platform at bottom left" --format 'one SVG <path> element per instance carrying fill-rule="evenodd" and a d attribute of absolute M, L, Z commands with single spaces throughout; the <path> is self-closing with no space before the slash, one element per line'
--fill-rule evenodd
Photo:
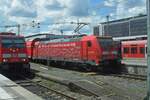
<path fill-rule="evenodd" d="M 61 91 L 52 89 L 48 86 L 41 84 L 41 80 L 39 79 L 32 80 L 23 75 L 21 75 L 20 77 L 22 77 L 23 80 L 16 80 L 15 83 L 41 96 L 45 100 L 77 100 L 75 97 L 69 96 L 62 93 Z"/>

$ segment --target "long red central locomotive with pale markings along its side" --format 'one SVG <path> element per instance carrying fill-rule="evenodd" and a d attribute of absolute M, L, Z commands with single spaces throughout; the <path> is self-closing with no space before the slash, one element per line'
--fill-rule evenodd
<path fill-rule="evenodd" d="M 49 60 L 82 63 L 99 66 L 118 64 L 118 47 L 112 37 L 75 36 L 46 41 L 27 41 L 29 57 L 34 60 Z M 32 49 L 31 49 L 32 48 Z"/>

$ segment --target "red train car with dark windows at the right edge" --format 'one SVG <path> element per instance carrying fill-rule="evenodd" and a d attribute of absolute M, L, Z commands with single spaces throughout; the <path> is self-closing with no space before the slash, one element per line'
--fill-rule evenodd
<path fill-rule="evenodd" d="M 145 59 L 147 56 L 147 40 L 131 40 L 122 42 L 123 59 Z"/>

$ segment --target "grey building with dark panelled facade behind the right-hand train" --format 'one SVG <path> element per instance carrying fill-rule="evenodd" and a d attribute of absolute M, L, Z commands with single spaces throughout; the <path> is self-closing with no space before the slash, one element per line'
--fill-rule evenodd
<path fill-rule="evenodd" d="M 93 28 L 94 35 L 113 37 L 137 36 L 147 34 L 147 16 L 139 15 L 120 20 L 100 23 Z"/>

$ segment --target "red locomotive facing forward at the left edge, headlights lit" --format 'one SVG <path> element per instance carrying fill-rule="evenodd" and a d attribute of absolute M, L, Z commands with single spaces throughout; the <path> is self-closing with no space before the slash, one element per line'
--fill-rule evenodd
<path fill-rule="evenodd" d="M 24 37 L 0 33 L 0 68 L 30 71 Z"/>

